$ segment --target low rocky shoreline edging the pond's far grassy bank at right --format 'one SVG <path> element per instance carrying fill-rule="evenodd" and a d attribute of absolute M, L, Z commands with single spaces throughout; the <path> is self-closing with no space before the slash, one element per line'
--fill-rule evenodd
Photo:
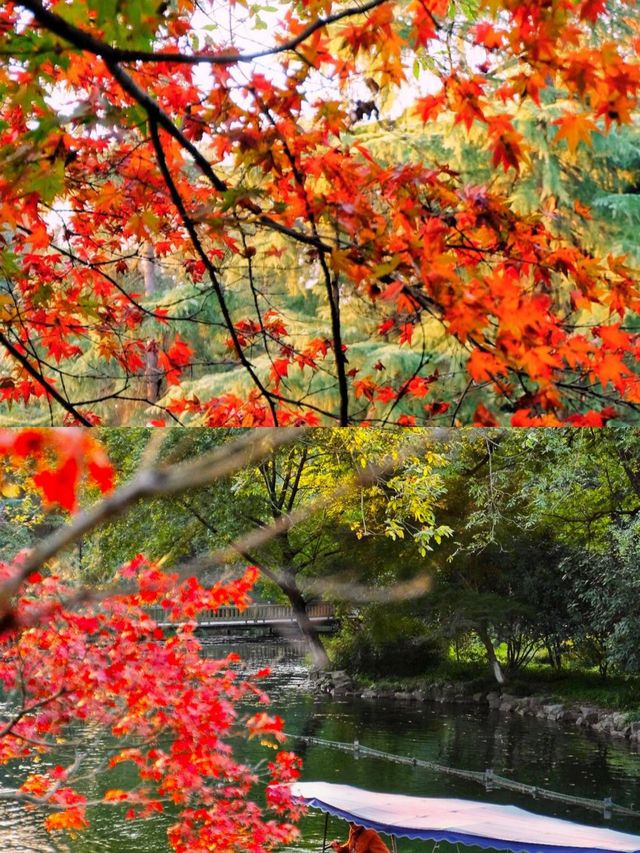
<path fill-rule="evenodd" d="M 395 699 L 401 702 L 438 702 L 478 705 L 501 714 L 518 714 L 540 720 L 573 725 L 611 737 L 623 738 L 640 747 L 640 720 L 629 714 L 591 705 L 555 702 L 547 696 L 512 696 L 506 692 L 471 692 L 464 682 L 434 682 L 419 690 L 359 686 L 344 670 L 323 672 L 312 681 L 313 690 L 335 697 Z"/>

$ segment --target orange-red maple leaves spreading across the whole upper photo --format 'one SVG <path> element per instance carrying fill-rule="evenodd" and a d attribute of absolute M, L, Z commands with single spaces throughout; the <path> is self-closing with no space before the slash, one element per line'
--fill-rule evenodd
<path fill-rule="evenodd" d="M 67 5 L 52 7 L 64 16 L 71 14 Z M 73 19 L 93 21 L 87 26 L 92 35 L 113 40 L 109 22 L 97 19 L 91 4 L 81 14 L 83 6 L 84 0 L 74 0 Z M 555 142 L 575 152 L 590 143 L 594 130 L 606 132 L 636 115 L 640 63 L 633 48 L 640 35 L 633 7 L 631 0 L 620 0 L 615 10 L 603 0 L 485 0 L 472 24 L 455 18 L 456 38 L 483 51 L 484 61 L 474 64 L 465 50 L 449 51 L 440 91 L 417 98 L 415 109 L 425 122 L 446 110 L 456 123 L 481 129 L 493 166 L 517 178 L 532 154 L 517 128 L 518 109 L 527 99 L 540 104 L 543 90 L 554 87 L 570 102 L 555 121 Z M 580 417 L 598 419 L 585 411 L 592 393 L 606 398 L 603 419 L 611 416 L 611 403 L 635 405 L 640 342 L 621 327 L 638 313 L 640 301 L 637 277 L 625 259 L 593 257 L 561 238 L 544 210 L 517 214 L 504 190 L 465 185 L 445 167 L 381 164 L 363 145 L 346 140 L 354 117 L 339 93 L 366 71 L 370 90 L 382 97 L 406 80 L 407 54 L 446 55 L 448 0 L 420 0 L 407 8 L 381 0 L 367 15 L 354 12 L 333 26 L 313 26 L 319 15 L 338 8 L 307 0 L 287 12 L 279 40 L 312 32 L 296 53 L 283 51 L 272 60 L 279 69 L 272 79 L 253 66 L 236 73 L 232 58 L 209 67 L 206 86 L 188 63 L 127 62 L 132 86 L 146 101 L 136 101 L 109 63 L 87 50 L 65 49 L 59 58 L 59 40 L 46 32 L 46 22 L 41 30 L 35 27 L 29 38 L 48 45 L 44 58 L 36 51 L 37 59 L 0 69 L 6 92 L 0 107 L 1 212 L 12 232 L 5 258 L 15 301 L 2 310 L 19 354 L 29 358 L 37 341 L 49 363 L 57 364 L 97 340 L 100 358 L 117 363 L 126 376 L 142 372 L 146 314 L 139 294 L 123 286 L 118 274 L 127 272 L 132 247 L 152 242 L 157 258 L 181 258 L 193 282 L 210 280 L 231 353 L 253 383 L 245 394 L 207 401 L 177 395 L 174 414 L 192 411 L 214 426 L 318 422 L 318 411 L 308 405 L 313 394 L 300 382 L 290 393 L 285 380 L 293 365 L 319 373 L 331 361 L 335 388 L 345 372 L 336 305 L 330 341 L 285 339 L 279 306 L 238 320 L 217 281 L 230 256 L 235 263 L 246 260 L 251 272 L 278 252 L 266 241 L 247 247 L 245 239 L 256 230 L 275 230 L 288 234 L 310 262 L 319 262 L 329 302 L 340 293 L 367 300 L 385 339 L 415 345 L 423 318 L 436 318 L 466 352 L 474 387 L 486 386 L 492 392 L 487 401 L 496 396 L 518 423 L 575 422 L 576 407 Z M 131 26 L 157 52 L 184 50 L 194 10 L 191 0 L 183 0 Z M 0 15 L 16 51 L 24 48 L 19 4 L 5 4 Z M 628 43 L 609 34 L 614 19 Z M 237 53 L 222 34 L 216 38 L 205 40 L 205 53 Z M 310 84 L 318 72 L 333 79 L 335 91 L 309 102 L 307 90 L 315 88 Z M 64 87 L 81 105 L 62 127 L 43 96 L 51 87 Z M 171 186 L 153 140 L 140 130 L 149 99 L 176 130 L 165 133 L 165 124 L 161 133 Z M 93 132 L 96 124 L 100 133 Z M 197 175 L 188 148 L 195 143 L 220 173 L 220 163 L 231 166 L 224 174 L 226 191 L 218 186 L 212 192 L 207 169 Z M 60 199 L 69 207 L 62 234 L 50 215 Z M 162 309 L 154 316 L 173 322 Z M 584 331 L 584 319 L 594 317 Z M 252 370 L 258 347 L 270 358 L 266 378 Z M 180 382 L 192 359 L 192 347 L 175 336 L 159 357 L 169 384 Z M 412 377 L 381 385 L 373 365 L 357 370 L 357 378 L 347 373 L 343 382 L 356 404 L 354 421 L 374 419 L 406 401 Z M 442 414 L 456 402 L 445 381 L 435 407 L 420 404 L 416 417 Z M 22 365 L 0 382 L 0 393 L 28 401 L 44 392 Z M 435 388 L 431 393 L 436 396 Z M 336 416 L 331 409 L 323 414 Z"/>

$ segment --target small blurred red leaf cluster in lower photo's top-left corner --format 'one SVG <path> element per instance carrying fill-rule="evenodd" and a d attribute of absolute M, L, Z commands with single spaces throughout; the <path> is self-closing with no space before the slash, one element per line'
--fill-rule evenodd
<path fill-rule="evenodd" d="M 29 467 L 45 506 L 73 512 L 83 481 L 101 492 L 113 487 L 113 466 L 102 445 L 87 430 L 3 429 L 0 458 L 9 467 Z"/>

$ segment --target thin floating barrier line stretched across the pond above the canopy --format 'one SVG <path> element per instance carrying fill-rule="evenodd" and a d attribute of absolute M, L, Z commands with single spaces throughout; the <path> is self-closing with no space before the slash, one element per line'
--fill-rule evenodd
<path fill-rule="evenodd" d="M 384 752 L 381 749 L 373 749 L 370 746 L 363 746 L 357 740 L 354 740 L 353 743 L 343 743 L 341 741 L 325 740 L 324 738 L 313 737 L 311 735 L 294 735 L 289 732 L 285 732 L 285 734 L 287 737 L 302 741 L 303 743 L 312 744 L 314 746 L 325 746 L 330 749 L 338 749 L 342 752 L 350 752 L 356 757 L 366 755 L 370 758 L 380 758 L 384 761 L 392 761 L 394 764 L 408 764 L 413 767 L 422 767 L 425 770 L 432 770 L 434 773 L 445 773 L 449 776 L 457 776 L 459 779 L 467 779 L 471 782 L 477 782 L 480 785 L 484 785 L 487 791 L 491 791 L 494 788 L 504 788 L 507 791 L 526 794 L 534 799 L 540 798 L 543 800 L 553 800 L 557 803 L 566 803 L 571 806 L 581 806 L 582 808 L 590 809 L 591 811 L 600 812 L 606 819 L 610 819 L 614 814 L 640 818 L 640 811 L 627 808 L 627 806 L 620 806 L 617 803 L 614 803 L 611 797 L 605 797 L 602 800 L 590 799 L 589 797 L 576 797 L 572 794 L 563 794 L 560 791 L 551 791 L 548 788 L 540 788 L 537 785 L 527 785 L 525 782 L 508 779 L 505 776 L 499 776 L 491 769 L 480 771 L 463 770 L 459 767 L 449 767 L 446 764 L 438 764 L 436 761 L 429 761 L 424 758 L 415 758 L 409 755 L 395 755 L 391 752 Z"/>

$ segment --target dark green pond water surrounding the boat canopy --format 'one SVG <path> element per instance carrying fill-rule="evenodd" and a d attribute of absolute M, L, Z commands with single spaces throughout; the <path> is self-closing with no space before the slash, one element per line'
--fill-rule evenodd
<path fill-rule="evenodd" d="M 207 642 L 207 652 L 219 656 L 238 651 L 249 667 L 270 664 L 266 686 L 274 709 L 286 730 L 327 740 L 358 740 L 398 755 L 437 761 L 468 770 L 493 769 L 518 781 L 577 796 L 613 801 L 640 810 L 640 755 L 626 742 L 562 727 L 529 717 L 505 717 L 469 706 L 414 704 L 362 699 L 314 697 L 307 689 L 307 673 L 295 647 L 278 641 L 243 641 L 233 645 Z M 299 746 L 291 743 L 292 748 Z M 96 768 L 108 744 L 98 744 L 87 759 Z M 606 825 L 640 834 L 640 820 L 602 815 L 511 792 L 487 792 L 474 782 L 431 771 L 355 757 L 320 746 L 302 747 L 303 779 L 341 782 L 376 791 L 417 796 L 445 796 L 513 803 L 543 814 L 581 823 Z M 25 763 L 16 768 L 22 778 L 36 769 Z M 0 785 L 7 782 L 0 776 Z M 119 784 L 125 780 L 120 780 Z M 99 786 L 100 780 L 93 782 Z M 112 783 L 111 783 L 112 785 Z M 124 784 L 122 785 L 125 786 Z M 0 849 L 20 853 L 165 853 L 164 818 L 152 821 L 120 820 L 113 809 L 95 809 L 91 828 L 75 839 L 57 841 L 41 828 L 41 816 L 22 806 L 0 806 Z M 309 813 L 301 824 L 302 837 L 286 853 L 316 853 L 322 847 L 324 817 Z M 329 838 L 344 838 L 346 824 L 331 818 Z M 400 853 L 426 853 L 431 845 L 401 840 Z M 444 851 L 445 846 L 441 845 Z M 284 851 L 283 851 L 284 853 Z"/>

